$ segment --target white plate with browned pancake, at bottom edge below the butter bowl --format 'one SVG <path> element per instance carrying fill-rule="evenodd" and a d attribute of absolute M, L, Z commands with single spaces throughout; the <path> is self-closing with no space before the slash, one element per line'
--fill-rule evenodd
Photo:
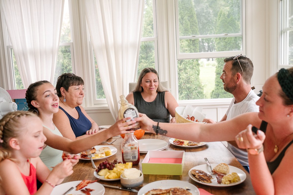
<path fill-rule="evenodd" d="M 183 189 L 189 188 L 190 190 L 188 190 L 192 195 L 199 195 L 200 191 L 198 190 L 198 188 L 188 182 L 185 181 L 181 181 L 181 180 L 159 180 L 159 181 L 155 181 L 155 182 L 151 182 L 147 185 L 145 185 L 144 187 L 142 187 L 137 195 L 144 195 L 145 193 L 147 193 L 148 191 L 152 190 L 152 189 L 169 189 L 169 188 L 174 188 L 174 187 L 180 187 Z"/>

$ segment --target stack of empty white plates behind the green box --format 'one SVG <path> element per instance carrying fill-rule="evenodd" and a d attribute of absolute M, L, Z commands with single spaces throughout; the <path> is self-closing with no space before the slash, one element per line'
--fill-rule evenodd
<path fill-rule="evenodd" d="M 168 143 L 161 139 L 139 139 L 139 151 L 160 150 L 168 146 Z"/>

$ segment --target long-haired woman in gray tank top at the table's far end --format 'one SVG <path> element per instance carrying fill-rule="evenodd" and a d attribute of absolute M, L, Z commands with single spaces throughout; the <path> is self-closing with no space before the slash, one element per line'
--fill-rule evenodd
<path fill-rule="evenodd" d="M 176 122 L 176 99 L 159 82 L 159 75 L 154 68 L 145 68 L 139 75 L 133 92 L 126 96 L 129 103 L 138 112 L 146 114 L 156 122 Z M 170 115 L 173 117 L 170 120 Z"/>

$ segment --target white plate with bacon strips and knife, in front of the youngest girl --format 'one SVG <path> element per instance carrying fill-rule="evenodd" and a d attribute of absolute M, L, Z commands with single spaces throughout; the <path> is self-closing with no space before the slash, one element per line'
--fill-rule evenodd
<path fill-rule="evenodd" d="M 81 192 L 81 190 L 76 190 L 76 186 L 81 182 L 80 181 L 73 181 L 73 182 L 67 182 L 63 184 L 59 184 L 54 187 L 53 191 L 51 192 L 51 195 L 62 195 L 67 190 L 69 190 L 71 187 L 74 187 L 70 192 L 67 194 L 84 194 Z M 90 183 L 86 186 L 86 188 L 94 189 L 94 191 L 91 191 L 91 195 L 103 195 L 105 193 L 105 188 L 102 184 L 98 182 Z M 83 188 L 84 189 L 84 188 Z"/>

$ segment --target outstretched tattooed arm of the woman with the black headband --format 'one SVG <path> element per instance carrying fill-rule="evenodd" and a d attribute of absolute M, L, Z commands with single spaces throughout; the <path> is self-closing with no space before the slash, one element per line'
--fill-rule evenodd
<path fill-rule="evenodd" d="M 158 123 L 145 114 L 140 113 L 139 116 L 135 120 L 141 122 L 141 128 L 156 133 Z M 159 123 L 158 134 L 190 141 L 226 141 L 234 140 L 235 136 L 249 124 L 259 127 L 260 122 L 257 113 L 244 113 L 231 120 L 215 124 Z"/>

